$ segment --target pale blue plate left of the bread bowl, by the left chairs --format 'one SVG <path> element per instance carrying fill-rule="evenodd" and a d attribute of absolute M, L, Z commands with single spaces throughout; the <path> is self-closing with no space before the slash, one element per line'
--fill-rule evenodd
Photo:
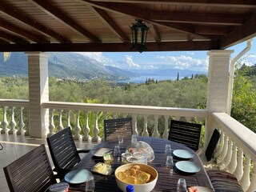
<path fill-rule="evenodd" d="M 89 170 L 71 170 L 65 175 L 64 179 L 71 184 L 79 184 L 86 182 L 90 175 L 91 173 Z"/>

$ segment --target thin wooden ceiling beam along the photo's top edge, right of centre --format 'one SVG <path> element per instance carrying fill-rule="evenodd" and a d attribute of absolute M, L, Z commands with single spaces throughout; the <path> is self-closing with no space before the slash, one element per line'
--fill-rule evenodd
<path fill-rule="evenodd" d="M 92 2 L 126 2 L 140 4 L 166 4 L 175 6 L 228 6 L 240 8 L 256 8 L 254 0 L 91 0 Z"/>

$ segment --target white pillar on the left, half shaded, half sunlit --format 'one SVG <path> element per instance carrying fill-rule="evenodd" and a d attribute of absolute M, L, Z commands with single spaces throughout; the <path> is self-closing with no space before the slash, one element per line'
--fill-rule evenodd
<path fill-rule="evenodd" d="M 30 137 L 46 138 L 49 127 L 49 110 L 43 109 L 41 104 L 49 101 L 49 55 L 42 52 L 27 52 L 26 54 L 29 67 Z"/>

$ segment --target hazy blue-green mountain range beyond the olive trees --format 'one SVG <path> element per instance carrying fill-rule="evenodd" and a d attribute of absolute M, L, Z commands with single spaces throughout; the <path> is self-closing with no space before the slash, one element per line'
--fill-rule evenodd
<path fill-rule="evenodd" d="M 95 78 L 104 78 L 110 81 L 119 81 L 136 76 L 145 75 L 177 75 L 190 77 L 191 74 L 202 74 L 192 70 L 122 70 L 114 66 L 104 66 L 102 63 L 86 55 L 77 53 L 50 53 L 49 76 L 69 78 L 78 81 L 87 81 Z M 10 58 L 3 62 L 0 54 L 0 76 L 27 76 L 27 57 L 24 53 L 12 53 Z"/>

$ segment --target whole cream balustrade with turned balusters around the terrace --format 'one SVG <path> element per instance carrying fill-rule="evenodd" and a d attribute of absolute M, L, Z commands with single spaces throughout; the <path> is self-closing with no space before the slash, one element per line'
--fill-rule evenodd
<path fill-rule="evenodd" d="M 0 106 L 0 111 L 2 110 L 1 134 L 29 136 L 30 130 L 27 125 L 29 102 L 0 99 Z M 256 165 L 256 146 L 254 144 L 256 134 L 226 113 L 209 113 L 208 110 L 171 107 L 74 102 L 43 102 L 42 108 L 50 111 L 48 136 L 66 126 L 71 126 L 74 131 L 74 139 L 85 142 L 102 141 L 104 131 L 98 125 L 102 125 L 106 118 L 130 116 L 133 118 L 135 134 L 165 139 L 168 138 L 168 128 L 172 118 L 183 118 L 188 122 L 206 121 L 205 133 L 210 132 L 207 126 L 212 126 L 212 130 L 217 128 L 221 132 L 221 139 L 214 154 L 219 169 L 233 173 L 238 178 L 243 190 L 249 192 L 256 190 L 256 166 L 254 166 Z M 91 121 L 93 123 L 90 123 Z M 91 127 L 91 125 L 94 126 Z M 203 136 L 205 141 L 208 141 L 208 135 L 210 134 Z"/>

